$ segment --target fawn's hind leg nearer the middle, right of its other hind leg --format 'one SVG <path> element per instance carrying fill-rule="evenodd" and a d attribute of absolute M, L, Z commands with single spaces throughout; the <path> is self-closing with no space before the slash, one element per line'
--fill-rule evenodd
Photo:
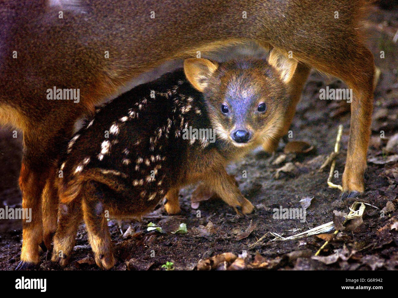
<path fill-rule="evenodd" d="M 85 188 L 82 200 L 83 218 L 95 261 L 100 268 L 111 269 L 115 265 L 115 259 L 103 207 L 102 186 L 90 181 L 83 187 Z"/>

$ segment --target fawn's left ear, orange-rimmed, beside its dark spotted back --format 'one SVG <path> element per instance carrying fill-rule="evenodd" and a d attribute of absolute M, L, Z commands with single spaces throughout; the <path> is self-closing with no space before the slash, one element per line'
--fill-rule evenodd
<path fill-rule="evenodd" d="M 204 58 L 188 58 L 184 60 L 184 73 L 195 89 L 203 92 L 209 84 L 209 78 L 217 70 L 219 64 Z"/>

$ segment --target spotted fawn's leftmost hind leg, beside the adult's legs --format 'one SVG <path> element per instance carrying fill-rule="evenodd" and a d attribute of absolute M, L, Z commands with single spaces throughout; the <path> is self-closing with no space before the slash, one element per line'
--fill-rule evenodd
<path fill-rule="evenodd" d="M 76 233 L 82 221 L 82 198 L 78 195 L 68 204 L 59 204 L 58 227 L 54 235 L 54 248 L 51 261 L 59 261 L 61 266 L 68 264 L 76 243 Z"/>

